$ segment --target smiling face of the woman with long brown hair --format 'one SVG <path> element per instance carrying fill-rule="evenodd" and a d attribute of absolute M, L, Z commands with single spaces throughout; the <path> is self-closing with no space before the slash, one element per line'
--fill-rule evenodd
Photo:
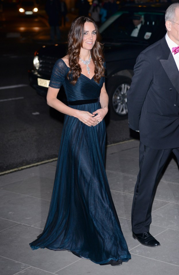
<path fill-rule="evenodd" d="M 92 50 L 96 41 L 96 29 L 92 22 L 84 23 L 83 46 L 85 50 Z"/>

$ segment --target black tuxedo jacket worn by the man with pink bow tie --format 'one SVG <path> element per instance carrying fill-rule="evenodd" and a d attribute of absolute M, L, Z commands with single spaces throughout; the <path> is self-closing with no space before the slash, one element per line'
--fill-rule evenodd
<path fill-rule="evenodd" d="M 179 71 L 165 37 L 137 57 L 127 105 L 129 127 L 143 144 L 179 147 Z"/>

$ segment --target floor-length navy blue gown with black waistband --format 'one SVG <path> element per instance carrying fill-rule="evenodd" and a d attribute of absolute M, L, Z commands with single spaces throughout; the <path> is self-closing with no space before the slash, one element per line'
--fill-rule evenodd
<path fill-rule="evenodd" d="M 68 72 L 65 62 L 57 60 L 49 86 L 63 85 L 71 108 L 100 109 L 104 77 L 98 84 L 81 74 L 72 85 Z M 33 250 L 68 250 L 96 264 L 131 258 L 106 177 L 105 138 L 104 120 L 89 127 L 65 115 L 50 209 L 42 234 L 30 243 Z"/>

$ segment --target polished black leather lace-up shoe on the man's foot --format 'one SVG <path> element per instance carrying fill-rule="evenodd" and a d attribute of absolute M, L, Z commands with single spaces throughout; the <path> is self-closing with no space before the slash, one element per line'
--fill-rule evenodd
<path fill-rule="evenodd" d="M 150 247 L 160 246 L 160 243 L 149 232 L 144 232 L 139 234 L 133 233 L 133 238 L 137 239 L 139 243 L 146 246 L 150 246 Z"/>

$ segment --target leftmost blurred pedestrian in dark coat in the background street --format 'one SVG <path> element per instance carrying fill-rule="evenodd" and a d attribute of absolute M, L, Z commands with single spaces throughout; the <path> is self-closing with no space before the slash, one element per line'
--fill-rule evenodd
<path fill-rule="evenodd" d="M 60 12 L 61 4 L 59 0 L 47 0 L 45 5 L 45 11 L 48 15 L 48 23 L 50 25 L 50 40 L 55 42 L 55 36 L 57 40 L 61 39 L 60 32 Z"/>

